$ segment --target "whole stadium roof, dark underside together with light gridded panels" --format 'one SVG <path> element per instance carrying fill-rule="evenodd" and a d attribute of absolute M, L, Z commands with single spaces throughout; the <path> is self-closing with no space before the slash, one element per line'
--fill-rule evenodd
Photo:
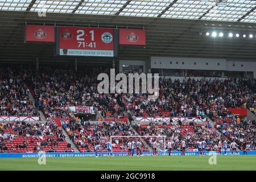
<path fill-rule="evenodd" d="M 104 2 L 100 5 L 98 2 Z M 7 3 L 9 2 L 9 3 Z M 39 17 L 38 9 L 40 2 L 46 3 L 46 16 Z M 175 56 L 175 57 L 207 57 L 238 60 L 255 60 L 256 57 L 256 24 L 248 23 L 249 19 L 254 19 L 256 13 L 255 1 L 241 1 L 236 6 L 250 5 L 247 16 L 242 14 L 242 9 L 236 8 L 237 13 L 226 13 L 226 16 L 237 14 L 237 18 L 230 22 L 220 19 L 207 19 L 209 15 L 204 13 L 202 18 L 184 19 L 185 17 L 160 18 L 171 14 L 171 7 L 185 5 L 185 1 L 174 1 L 170 6 L 164 8 L 158 16 L 144 17 L 146 14 L 130 16 L 128 11 L 143 9 L 133 6 L 137 2 L 153 1 L 106 1 L 94 0 L 93 5 L 88 5 L 92 1 L 1 1 L 0 0 L 0 61 L 26 61 L 45 60 L 53 61 L 73 61 L 72 57 L 54 56 L 54 44 L 30 44 L 24 43 L 25 24 L 48 24 L 55 26 L 76 26 L 76 27 L 108 27 L 108 28 L 145 28 L 146 46 L 118 46 L 118 59 L 146 60 L 150 56 Z M 97 2 L 97 3 L 96 3 Z M 109 2 L 109 3 L 106 3 Z M 108 9 L 111 3 L 115 2 L 117 9 Z M 156 0 L 154 1 L 156 3 Z M 157 1 L 158 3 L 160 1 Z M 163 1 L 164 2 L 164 1 Z M 162 3 L 163 3 L 162 2 Z M 165 2 L 170 2 L 165 0 Z M 209 1 L 186 1 L 191 2 L 189 8 L 199 3 L 209 3 Z M 238 0 L 228 0 L 228 2 L 238 2 Z M 241 4 L 243 2 L 243 4 Z M 16 4 L 15 4 L 16 3 Z M 174 5 L 176 3 L 176 5 Z M 57 4 L 57 5 L 56 5 Z M 64 4 L 64 5 L 63 5 Z M 233 3 L 234 4 L 234 3 Z M 121 5 L 121 6 L 120 6 Z M 193 6 L 192 6 L 193 5 Z M 85 8 L 94 7 L 92 12 L 85 11 Z M 152 4 L 150 9 L 153 9 Z M 161 7 L 160 5 L 158 7 Z M 103 9 L 104 8 L 104 9 Z M 108 10 L 105 10 L 107 8 Z M 193 11 L 199 7 L 194 6 Z M 207 7 L 200 7 L 200 10 Z M 96 11 L 96 9 L 98 11 Z M 156 8 L 157 9 L 157 8 Z M 249 10 L 250 9 L 250 10 Z M 72 10 L 72 11 L 71 11 Z M 100 11 L 101 10 L 101 11 Z M 104 12 L 111 14 L 104 14 Z M 253 10 L 253 11 L 252 11 Z M 55 12 L 59 13 L 55 13 Z M 192 10 L 179 10 L 179 12 L 193 12 Z M 148 12 L 148 11 L 147 11 Z M 178 11 L 174 11 L 178 12 Z M 233 11 L 235 12 L 235 11 Z M 251 13 L 250 13 L 251 12 Z M 256 12 L 256 11 L 255 11 Z M 97 14 L 96 14 L 97 13 Z M 242 16 L 241 16 L 242 15 Z M 255 16 L 253 16 L 255 15 Z M 251 18 L 253 16 L 253 18 Z M 243 19 L 241 19 L 243 17 Z M 241 19 L 240 21 L 238 21 Z M 246 22 L 247 20 L 247 22 Z M 205 32 L 223 32 L 224 36 L 213 38 L 205 36 Z M 233 38 L 228 34 L 232 32 Z M 236 34 L 240 34 L 236 38 Z M 242 35 L 246 34 L 246 38 Z M 253 38 L 249 38 L 249 34 Z M 77 57 L 77 60 L 104 60 L 101 57 Z"/>

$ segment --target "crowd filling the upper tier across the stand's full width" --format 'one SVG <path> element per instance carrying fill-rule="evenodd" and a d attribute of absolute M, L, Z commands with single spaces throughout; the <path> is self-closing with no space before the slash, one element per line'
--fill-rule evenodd
<path fill-rule="evenodd" d="M 159 97 L 148 100 L 148 94 L 100 94 L 99 73 L 108 67 L 71 68 L 42 66 L 38 73 L 26 69 L 6 69 L 1 73 L 1 114 L 37 115 L 28 100 L 24 81 L 35 92 L 35 105 L 47 118 L 69 118 L 68 106 L 94 106 L 103 117 L 209 117 L 229 118 L 229 107 L 248 107 L 254 114 L 256 80 L 172 80 L 159 78 Z M 23 70 L 23 71 L 20 71 Z M 2 76 L 5 75 L 5 76 Z M 4 79 L 6 78 L 6 79 Z M 8 78 L 8 79 L 7 79 Z"/>

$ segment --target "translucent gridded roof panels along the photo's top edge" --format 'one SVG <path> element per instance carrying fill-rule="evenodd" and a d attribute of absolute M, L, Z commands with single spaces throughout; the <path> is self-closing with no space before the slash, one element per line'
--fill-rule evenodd
<path fill-rule="evenodd" d="M 10 0 L 0 10 L 256 23 L 255 0 Z"/>

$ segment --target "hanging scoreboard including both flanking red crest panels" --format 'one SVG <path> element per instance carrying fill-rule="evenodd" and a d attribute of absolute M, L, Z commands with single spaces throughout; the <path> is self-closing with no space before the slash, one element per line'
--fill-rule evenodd
<path fill-rule="evenodd" d="M 118 45 L 146 46 L 146 31 L 131 28 L 24 25 L 24 43 L 55 44 L 55 56 L 117 57 Z"/>

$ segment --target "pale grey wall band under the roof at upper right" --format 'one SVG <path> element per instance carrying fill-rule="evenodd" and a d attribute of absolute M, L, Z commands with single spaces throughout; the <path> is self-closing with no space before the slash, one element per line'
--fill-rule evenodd
<path fill-rule="evenodd" d="M 253 72 L 256 78 L 255 60 L 232 60 L 232 59 L 204 59 L 194 57 L 160 57 L 152 56 L 142 60 L 119 60 L 119 70 L 123 65 L 143 65 L 143 72 L 150 69 L 192 69 L 211 71 L 243 71 Z M 233 66 L 234 65 L 234 66 Z"/>

